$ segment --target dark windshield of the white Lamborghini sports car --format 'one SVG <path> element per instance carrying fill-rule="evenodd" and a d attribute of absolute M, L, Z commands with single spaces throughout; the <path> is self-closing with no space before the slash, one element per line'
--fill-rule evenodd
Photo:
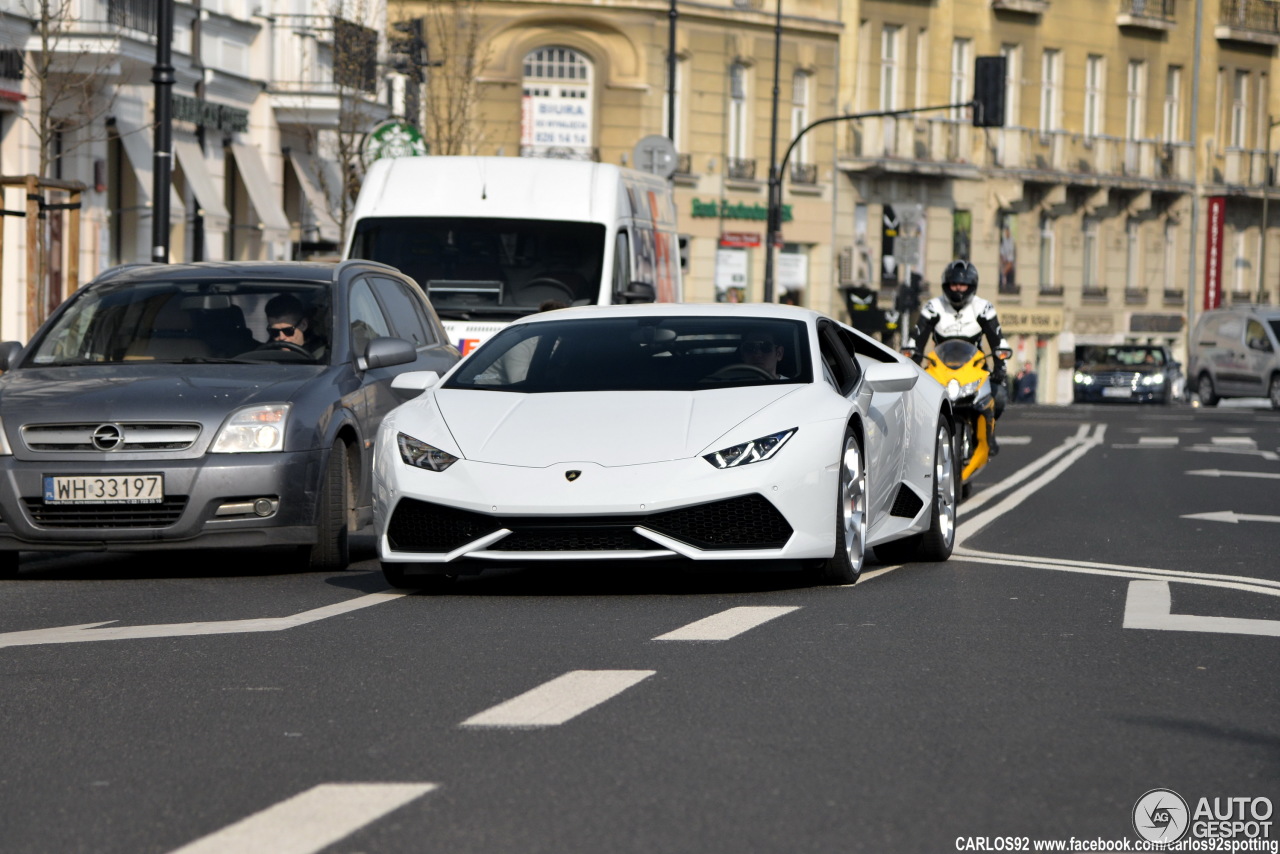
<path fill-rule="evenodd" d="M 810 383 L 806 330 L 796 320 L 726 316 L 517 324 L 471 353 L 444 388 L 548 393 Z"/>

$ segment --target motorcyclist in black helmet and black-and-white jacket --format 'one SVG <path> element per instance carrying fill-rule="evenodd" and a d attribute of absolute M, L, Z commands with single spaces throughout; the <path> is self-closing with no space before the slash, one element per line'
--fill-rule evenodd
<path fill-rule="evenodd" d="M 1000 330 L 1000 319 L 996 316 L 996 306 L 978 296 L 978 268 L 969 261 L 952 261 L 942 273 L 942 296 L 933 297 L 924 309 L 920 310 L 920 319 L 915 329 L 902 342 L 902 352 L 919 365 L 924 360 L 924 351 L 929 343 L 929 335 L 937 342 L 961 338 L 980 346 L 983 335 L 991 344 L 995 356 L 991 369 L 992 396 L 995 398 L 995 412 L 987 412 L 987 444 L 991 456 L 1000 453 L 996 443 L 996 419 L 1005 411 L 1009 399 L 1009 388 L 1005 380 L 1005 360 L 1012 355 L 1009 342 L 1005 341 Z"/>

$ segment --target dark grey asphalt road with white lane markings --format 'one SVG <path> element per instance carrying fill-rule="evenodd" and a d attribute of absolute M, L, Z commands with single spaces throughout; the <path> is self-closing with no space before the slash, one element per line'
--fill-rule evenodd
<path fill-rule="evenodd" d="M 952 851 L 1137 840 L 1152 789 L 1280 802 L 1280 414 L 1000 435 L 956 556 L 847 588 L 612 563 L 397 595 L 367 536 L 328 576 L 27 561 L 0 851 Z"/>

